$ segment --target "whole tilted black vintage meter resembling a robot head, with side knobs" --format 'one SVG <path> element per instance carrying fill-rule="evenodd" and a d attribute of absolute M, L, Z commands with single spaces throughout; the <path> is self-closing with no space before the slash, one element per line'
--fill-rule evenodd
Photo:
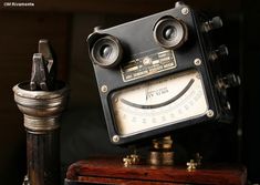
<path fill-rule="evenodd" d="M 219 17 L 206 20 L 177 2 L 167 11 L 95 29 L 89 52 L 112 143 L 230 119 L 226 89 L 239 79 L 220 72 L 228 50 L 208 35 L 220 27 Z"/>

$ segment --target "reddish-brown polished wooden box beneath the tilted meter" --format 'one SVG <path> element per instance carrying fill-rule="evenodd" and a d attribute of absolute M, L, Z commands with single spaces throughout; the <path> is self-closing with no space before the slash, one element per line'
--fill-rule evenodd
<path fill-rule="evenodd" d="M 201 168 L 189 172 L 186 166 L 178 165 L 125 167 L 122 158 L 92 158 L 72 164 L 65 185 L 245 185 L 246 181 L 247 169 L 241 165 L 204 164 Z"/>

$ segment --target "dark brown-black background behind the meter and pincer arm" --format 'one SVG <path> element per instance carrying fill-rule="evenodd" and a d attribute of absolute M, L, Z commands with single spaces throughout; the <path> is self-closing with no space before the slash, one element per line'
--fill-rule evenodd
<path fill-rule="evenodd" d="M 30 79 L 32 54 L 42 38 L 51 41 L 59 60 L 59 79 L 69 82 L 72 90 L 61 130 L 63 174 L 69 164 L 90 155 L 123 153 L 108 142 L 85 39 L 96 25 L 123 23 L 169 9 L 175 2 L 32 0 L 35 6 L 31 8 L 8 8 L 0 2 L 0 184 L 21 184 L 25 175 L 25 132 L 12 86 Z M 239 74 L 242 84 L 229 92 L 236 115 L 232 124 L 178 131 L 177 148 L 183 154 L 199 151 L 206 161 L 242 163 L 248 167 L 249 181 L 260 183 L 260 2 L 186 3 L 223 19 L 225 27 L 216 32 L 217 41 L 226 43 L 230 52 L 225 70 Z M 183 136 L 187 134 L 189 137 Z"/>

